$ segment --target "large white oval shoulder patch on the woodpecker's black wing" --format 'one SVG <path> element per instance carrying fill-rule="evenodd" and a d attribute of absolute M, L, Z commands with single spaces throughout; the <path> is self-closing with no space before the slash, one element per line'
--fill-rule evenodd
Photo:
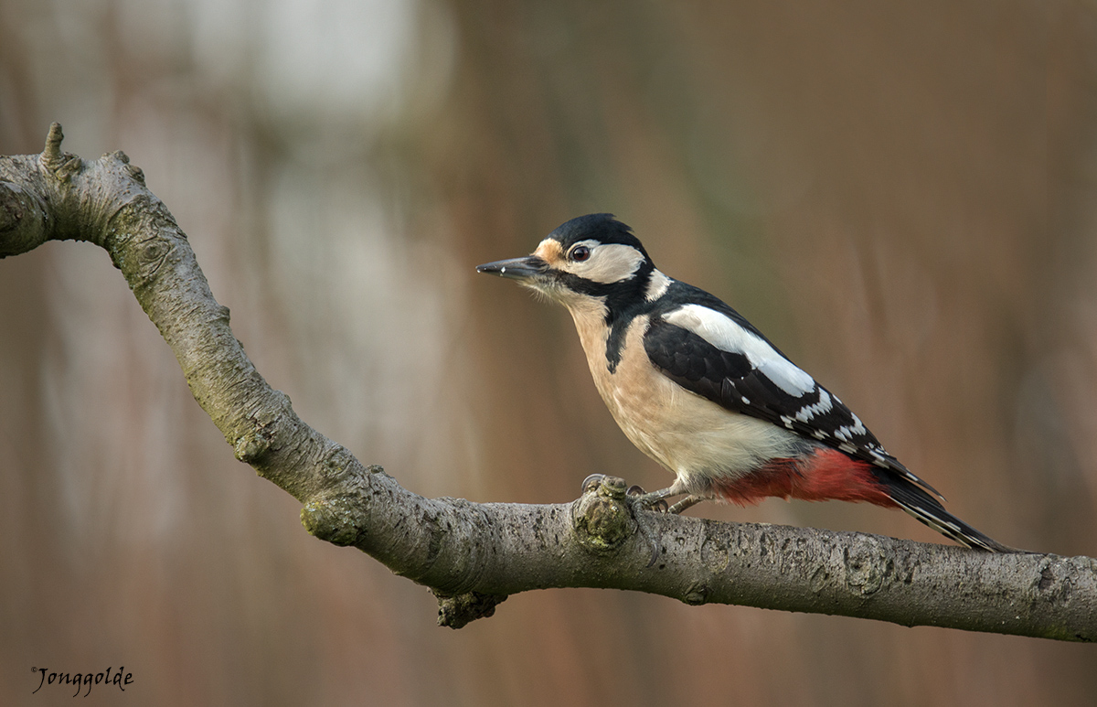
<path fill-rule="evenodd" d="M 755 369 L 789 395 L 800 397 L 815 390 L 815 379 L 764 339 L 715 310 L 700 304 L 683 304 L 663 315 L 663 318 L 697 334 L 722 351 L 746 356 Z"/>

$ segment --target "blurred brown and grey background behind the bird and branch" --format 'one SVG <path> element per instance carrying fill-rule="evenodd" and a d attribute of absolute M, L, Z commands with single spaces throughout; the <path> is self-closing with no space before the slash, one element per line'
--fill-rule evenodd
<path fill-rule="evenodd" d="M 566 313 L 474 266 L 610 211 L 950 508 L 1097 554 L 1089 2 L 4 0 L 0 154 L 124 149 L 259 369 L 406 487 L 657 487 Z M 1097 647 L 618 592 L 461 631 L 233 459 L 104 252 L 0 262 L 0 703 L 1083 705 Z M 691 513 L 927 541 L 901 513 Z M 36 702 L 34 702 L 36 700 Z M 118 702 L 95 688 L 89 703 Z"/>

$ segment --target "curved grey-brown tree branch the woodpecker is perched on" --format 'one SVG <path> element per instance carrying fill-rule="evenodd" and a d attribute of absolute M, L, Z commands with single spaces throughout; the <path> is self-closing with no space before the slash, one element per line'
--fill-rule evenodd
<path fill-rule="evenodd" d="M 425 498 L 306 425 L 229 328 L 186 236 L 122 153 L 83 160 L 54 124 L 41 155 L 0 157 L 0 257 L 79 239 L 110 254 L 236 458 L 297 498 L 314 536 L 431 587 L 460 628 L 510 594 L 612 587 L 688 604 L 1097 640 L 1097 561 L 991 554 L 808 528 L 644 513 L 607 478 L 566 505 Z M 652 541 L 658 547 L 648 566 Z"/>

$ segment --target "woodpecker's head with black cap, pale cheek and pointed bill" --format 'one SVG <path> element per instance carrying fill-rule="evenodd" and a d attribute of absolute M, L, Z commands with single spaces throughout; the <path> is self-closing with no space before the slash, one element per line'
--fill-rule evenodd
<path fill-rule="evenodd" d="M 609 312 L 651 299 L 649 282 L 658 279 L 665 289 L 666 280 L 629 226 L 612 214 L 573 218 L 532 255 L 487 262 L 476 271 L 517 280 L 568 308 L 597 300 Z"/>

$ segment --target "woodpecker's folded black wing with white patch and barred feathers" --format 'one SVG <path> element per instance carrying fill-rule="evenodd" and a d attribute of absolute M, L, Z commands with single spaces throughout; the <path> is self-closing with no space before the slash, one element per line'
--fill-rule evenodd
<path fill-rule="evenodd" d="M 779 425 L 934 491 L 735 310 L 702 290 L 676 284 L 690 291 L 688 303 L 668 302 L 653 313 L 644 335 L 647 356 L 664 375 L 726 409 Z"/>

